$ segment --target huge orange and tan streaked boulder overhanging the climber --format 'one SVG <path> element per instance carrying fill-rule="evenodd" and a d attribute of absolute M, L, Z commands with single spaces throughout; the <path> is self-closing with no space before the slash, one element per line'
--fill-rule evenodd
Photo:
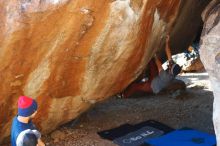
<path fill-rule="evenodd" d="M 1 0 L 0 142 L 10 134 L 19 95 L 38 101 L 34 122 L 49 132 L 124 89 L 163 47 L 177 18 L 198 17 L 180 15 L 196 11 L 192 3 Z"/>

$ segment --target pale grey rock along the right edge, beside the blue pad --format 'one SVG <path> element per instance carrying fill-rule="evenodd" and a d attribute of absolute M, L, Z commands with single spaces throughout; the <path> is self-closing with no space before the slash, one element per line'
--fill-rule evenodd
<path fill-rule="evenodd" d="M 220 1 L 213 0 L 203 13 L 201 59 L 214 91 L 213 121 L 220 145 Z"/>

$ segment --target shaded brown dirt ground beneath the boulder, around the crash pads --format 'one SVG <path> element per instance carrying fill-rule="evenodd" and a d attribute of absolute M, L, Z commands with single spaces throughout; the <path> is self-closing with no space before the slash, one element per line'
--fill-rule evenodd
<path fill-rule="evenodd" d="M 190 127 L 214 133 L 213 93 L 207 73 L 182 74 L 187 90 L 160 95 L 138 94 L 133 98 L 112 97 L 99 103 L 77 120 L 43 137 L 49 146 L 114 146 L 97 132 L 125 123 L 154 119 L 173 128 Z"/>

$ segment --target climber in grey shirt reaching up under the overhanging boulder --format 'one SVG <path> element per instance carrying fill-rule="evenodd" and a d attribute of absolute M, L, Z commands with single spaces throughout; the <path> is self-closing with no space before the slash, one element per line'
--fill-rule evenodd
<path fill-rule="evenodd" d="M 169 88 L 169 90 L 177 90 L 179 88 L 185 88 L 185 83 L 175 79 L 175 77 L 181 72 L 181 67 L 174 63 L 169 47 L 170 37 L 166 38 L 166 55 L 168 58 L 168 69 L 162 68 L 162 62 L 155 55 L 155 57 L 148 64 L 148 77 L 143 77 L 142 80 L 135 81 L 125 89 L 124 92 L 118 94 L 122 98 L 127 98 L 137 91 L 143 91 L 145 93 L 158 94 L 160 91 Z"/>

